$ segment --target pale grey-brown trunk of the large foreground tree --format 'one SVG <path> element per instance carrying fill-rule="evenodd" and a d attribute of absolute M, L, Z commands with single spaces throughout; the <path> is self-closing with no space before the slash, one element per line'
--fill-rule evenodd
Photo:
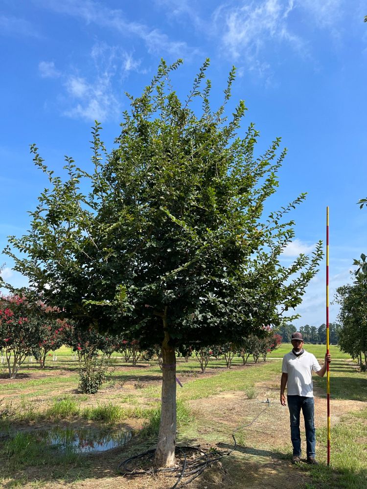
<path fill-rule="evenodd" d="M 174 348 L 169 345 L 165 317 L 163 328 L 161 424 L 155 464 L 157 467 L 173 467 L 176 449 L 176 354 Z"/>

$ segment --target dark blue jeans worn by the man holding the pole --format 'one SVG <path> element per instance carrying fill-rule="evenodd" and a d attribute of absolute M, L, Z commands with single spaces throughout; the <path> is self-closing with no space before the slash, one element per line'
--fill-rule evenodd
<path fill-rule="evenodd" d="M 316 430 L 314 425 L 314 398 L 304 396 L 287 396 L 291 418 L 291 440 L 293 455 L 301 456 L 301 435 L 299 432 L 299 413 L 302 409 L 306 430 L 307 458 L 315 457 Z"/>

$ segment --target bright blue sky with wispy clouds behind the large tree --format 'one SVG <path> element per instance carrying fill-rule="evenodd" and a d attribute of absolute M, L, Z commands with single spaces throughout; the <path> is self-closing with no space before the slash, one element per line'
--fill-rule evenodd
<path fill-rule="evenodd" d="M 284 262 L 325 236 L 330 207 L 330 297 L 350 281 L 353 258 L 367 252 L 365 183 L 367 15 L 359 0 L 0 0 L 0 249 L 27 229 L 27 211 L 47 182 L 29 144 L 61 172 L 64 155 L 88 165 L 90 127 L 102 122 L 112 148 L 124 92 L 138 95 L 159 60 L 184 59 L 173 77 L 183 94 L 206 57 L 214 105 L 237 67 L 233 103 L 261 133 L 259 152 L 276 136 L 288 148 L 270 207 L 307 192 L 292 214 L 297 239 Z M 244 125 L 244 131 L 246 125 Z M 13 285 L 26 283 L 3 256 Z M 325 321 L 324 264 L 296 322 Z M 331 306 L 330 320 L 337 307 Z"/>

